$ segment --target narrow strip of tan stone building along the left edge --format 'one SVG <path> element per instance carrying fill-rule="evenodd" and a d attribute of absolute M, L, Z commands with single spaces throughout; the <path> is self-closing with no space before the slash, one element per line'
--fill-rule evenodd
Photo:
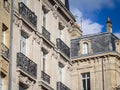
<path fill-rule="evenodd" d="M 0 90 L 8 90 L 10 0 L 0 0 Z"/>

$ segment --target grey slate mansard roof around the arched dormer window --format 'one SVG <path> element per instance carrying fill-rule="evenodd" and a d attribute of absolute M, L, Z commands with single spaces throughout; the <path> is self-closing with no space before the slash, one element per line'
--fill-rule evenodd
<path fill-rule="evenodd" d="M 76 39 L 72 39 L 71 58 L 82 56 L 82 54 L 80 55 L 80 53 L 78 52 L 80 50 L 79 42 L 83 39 L 90 40 L 91 42 L 92 53 L 90 54 L 97 54 L 97 53 L 115 51 L 115 40 L 118 40 L 119 38 L 112 33 L 98 33 L 98 34 L 85 35 Z"/>

